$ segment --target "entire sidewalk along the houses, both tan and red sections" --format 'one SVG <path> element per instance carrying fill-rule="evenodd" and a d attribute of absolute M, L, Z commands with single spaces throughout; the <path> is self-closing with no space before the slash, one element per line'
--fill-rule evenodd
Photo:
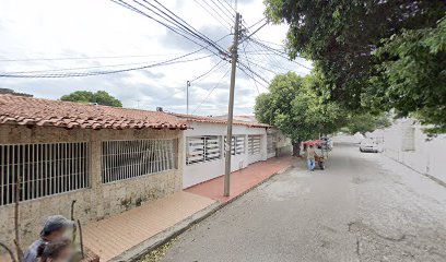
<path fill-rule="evenodd" d="M 128 261 L 207 217 L 228 201 L 291 166 L 292 157 L 272 158 L 232 172 L 231 196 L 223 196 L 223 177 L 193 186 L 121 214 L 87 224 L 84 245 L 101 261 Z M 218 202 L 219 201 L 219 202 Z"/>

